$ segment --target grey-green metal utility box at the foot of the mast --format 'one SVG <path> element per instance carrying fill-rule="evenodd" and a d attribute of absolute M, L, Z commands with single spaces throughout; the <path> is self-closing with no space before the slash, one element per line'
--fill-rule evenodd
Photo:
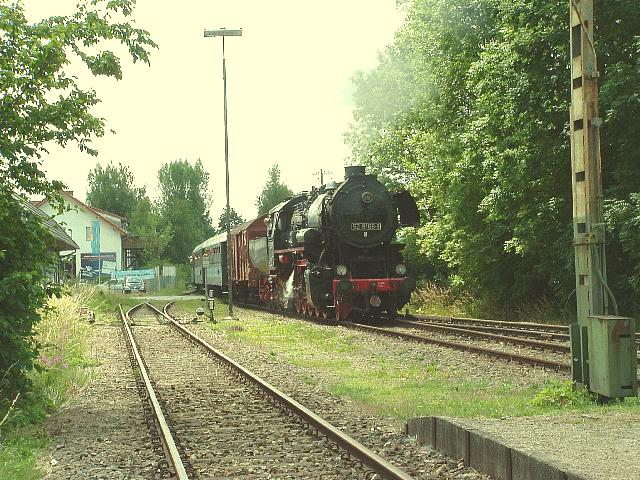
<path fill-rule="evenodd" d="M 609 398 L 638 395 L 635 320 L 589 317 L 589 389 Z"/>

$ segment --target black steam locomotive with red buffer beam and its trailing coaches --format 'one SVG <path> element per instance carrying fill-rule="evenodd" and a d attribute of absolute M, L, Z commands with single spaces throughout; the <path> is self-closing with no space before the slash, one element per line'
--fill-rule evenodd
<path fill-rule="evenodd" d="M 289 198 L 231 231 L 234 295 L 317 317 L 393 318 L 416 287 L 404 245 L 393 239 L 418 222 L 407 191 L 391 193 L 363 166 L 346 167 L 343 182 Z M 193 250 L 194 285 L 228 288 L 226 242 L 222 234 Z"/>

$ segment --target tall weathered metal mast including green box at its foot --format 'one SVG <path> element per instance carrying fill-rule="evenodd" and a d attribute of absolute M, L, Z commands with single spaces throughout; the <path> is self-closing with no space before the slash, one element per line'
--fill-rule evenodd
<path fill-rule="evenodd" d="M 593 44 L 593 0 L 569 0 L 571 11 L 571 168 L 577 324 L 571 326 L 572 376 L 606 401 L 637 395 L 634 320 L 618 315 L 607 285 L 605 225 Z M 610 312 L 612 314 L 610 314 Z"/>

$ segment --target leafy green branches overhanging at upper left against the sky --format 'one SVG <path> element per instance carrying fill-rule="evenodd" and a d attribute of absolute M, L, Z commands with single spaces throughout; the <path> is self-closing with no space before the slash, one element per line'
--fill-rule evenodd
<path fill-rule="evenodd" d="M 0 2 L 0 172 L 8 189 L 50 190 L 39 163 L 48 142 L 77 142 L 97 153 L 91 139 L 104 134 L 104 119 L 90 112 L 99 102 L 96 92 L 82 89 L 65 69 L 74 53 L 95 75 L 121 78 L 118 57 L 100 50 L 105 41 L 123 44 L 134 62 L 149 63 L 155 43 L 126 22 L 134 3 L 81 0 L 72 15 L 30 24 L 19 2 Z"/>

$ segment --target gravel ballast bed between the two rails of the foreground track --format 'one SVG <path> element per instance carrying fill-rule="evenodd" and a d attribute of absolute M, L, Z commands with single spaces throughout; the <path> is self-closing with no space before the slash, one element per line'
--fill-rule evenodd
<path fill-rule="evenodd" d="M 357 480 L 366 473 L 170 325 L 134 327 L 197 478 Z"/>

